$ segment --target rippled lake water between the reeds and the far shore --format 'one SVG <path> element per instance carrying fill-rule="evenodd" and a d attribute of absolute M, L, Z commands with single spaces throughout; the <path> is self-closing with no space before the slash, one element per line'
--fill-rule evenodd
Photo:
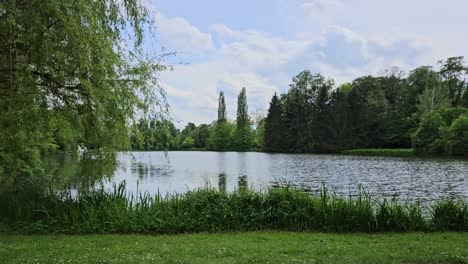
<path fill-rule="evenodd" d="M 211 186 L 267 188 L 289 183 L 311 192 L 323 184 L 340 196 L 360 186 L 377 196 L 468 200 L 468 160 L 237 152 L 121 152 L 105 160 L 66 155 L 45 159 L 59 186 L 90 188 L 126 182 L 129 192 L 182 193 Z"/>

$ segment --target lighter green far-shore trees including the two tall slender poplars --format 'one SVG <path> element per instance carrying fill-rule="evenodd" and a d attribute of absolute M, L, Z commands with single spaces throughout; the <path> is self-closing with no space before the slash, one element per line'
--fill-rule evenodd
<path fill-rule="evenodd" d="M 200 149 L 214 151 L 248 151 L 261 149 L 258 143 L 263 135 L 259 126 L 254 129 L 248 114 L 247 91 L 242 88 L 237 100 L 235 121 L 227 118 L 224 92 L 218 100 L 218 118 L 211 124 L 196 126 L 188 123 L 180 131 L 169 120 L 141 119 L 131 130 L 131 143 L 134 150 L 183 150 Z"/>

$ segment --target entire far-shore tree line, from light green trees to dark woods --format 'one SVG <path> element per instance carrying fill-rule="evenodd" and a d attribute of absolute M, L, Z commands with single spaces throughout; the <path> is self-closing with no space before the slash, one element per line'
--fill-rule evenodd
<path fill-rule="evenodd" d="M 260 150 L 336 153 L 358 148 L 414 148 L 419 154 L 468 153 L 468 66 L 463 57 L 421 66 L 407 75 L 391 67 L 335 85 L 304 70 L 287 92 L 274 94 L 265 118 L 253 124 L 246 90 L 237 118 L 226 118 L 223 92 L 218 119 L 182 131 L 169 121 L 141 120 L 132 130 L 134 149 Z"/>

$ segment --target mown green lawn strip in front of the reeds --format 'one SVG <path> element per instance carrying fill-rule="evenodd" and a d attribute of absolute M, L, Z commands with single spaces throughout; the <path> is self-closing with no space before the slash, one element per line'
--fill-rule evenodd
<path fill-rule="evenodd" d="M 0 235 L 1 263 L 468 263 L 468 233 Z"/>

